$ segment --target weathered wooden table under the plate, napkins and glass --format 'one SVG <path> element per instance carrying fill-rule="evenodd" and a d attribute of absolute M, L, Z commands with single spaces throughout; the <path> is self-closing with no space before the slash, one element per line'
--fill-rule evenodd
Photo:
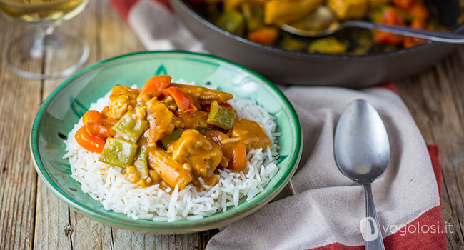
<path fill-rule="evenodd" d="M 69 209 L 37 178 L 29 153 L 31 123 L 62 79 L 25 79 L 6 66 L 7 44 L 26 29 L 0 19 L 0 249 L 204 249 L 216 230 L 160 236 L 114 229 Z M 60 29 L 73 29 L 89 41 L 87 65 L 144 50 L 104 0 L 90 1 Z M 47 71 L 53 64 L 44 61 L 41 67 Z M 448 249 L 463 249 L 464 46 L 433 69 L 398 81 L 398 89 L 425 141 L 440 146 L 443 219 L 453 225 Z"/>

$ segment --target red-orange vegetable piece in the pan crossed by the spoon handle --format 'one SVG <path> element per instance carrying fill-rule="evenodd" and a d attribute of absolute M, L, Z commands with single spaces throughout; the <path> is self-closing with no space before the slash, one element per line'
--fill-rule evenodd
<path fill-rule="evenodd" d="M 396 26 L 405 26 L 405 21 L 393 7 L 388 7 L 383 12 L 382 19 L 380 19 L 380 24 L 396 25 Z M 400 45 L 403 43 L 403 36 L 391 34 L 385 31 L 374 31 L 374 39 L 383 44 L 393 44 Z"/>

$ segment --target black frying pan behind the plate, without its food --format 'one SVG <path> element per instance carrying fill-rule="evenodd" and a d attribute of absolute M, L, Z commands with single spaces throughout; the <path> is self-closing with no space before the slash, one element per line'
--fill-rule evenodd
<path fill-rule="evenodd" d="M 286 51 L 257 44 L 224 31 L 205 19 L 183 0 L 170 0 L 177 16 L 206 49 L 217 56 L 258 71 L 281 84 L 368 86 L 399 79 L 428 69 L 449 54 L 455 45 L 428 42 L 410 49 L 368 54 L 333 56 Z M 460 15 L 458 0 L 434 1 L 440 23 L 455 32 Z"/>

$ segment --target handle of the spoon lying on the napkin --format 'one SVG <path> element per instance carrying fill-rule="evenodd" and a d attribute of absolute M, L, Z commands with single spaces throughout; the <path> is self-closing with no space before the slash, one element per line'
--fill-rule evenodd
<path fill-rule="evenodd" d="M 365 250 L 385 250 L 383 246 L 382 231 L 380 230 L 380 224 L 378 224 L 377 212 L 375 211 L 374 199 L 372 196 L 372 189 L 369 184 L 364 184 L 365 190 L 365 215 L 367 218 L 366 223 L 369 225 L 365 226 Z M 374 221 L 371 221 L 373 218 Z M 373 222 L 375 225 L 370 224 Z M 377 231 L 377 234 L 375 234 Z M 370 237 L 369 237 L 370 236 Z M 372 239 L 373 238 L 373 239 Z"/>

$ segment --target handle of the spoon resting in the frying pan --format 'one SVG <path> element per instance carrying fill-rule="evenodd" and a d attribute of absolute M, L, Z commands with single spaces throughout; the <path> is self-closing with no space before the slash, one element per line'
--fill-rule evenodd
<path fill-rule="evenodd" d="M 368 21 L 345 21 L 341 24 L 345 27 L 358 27 L 365 29 L 380 29 L 388 31 L 393 34 L 412 36 L 420 39 L 427 39 L 430 41 L 441 41 L 450 44 L 464 44 L 464 35 L 455 34 L 452 32 L 431 31 L 427 29 L 413 29 L 402 26 L 392 26 L 385 24 L 375 24 Z"/>

